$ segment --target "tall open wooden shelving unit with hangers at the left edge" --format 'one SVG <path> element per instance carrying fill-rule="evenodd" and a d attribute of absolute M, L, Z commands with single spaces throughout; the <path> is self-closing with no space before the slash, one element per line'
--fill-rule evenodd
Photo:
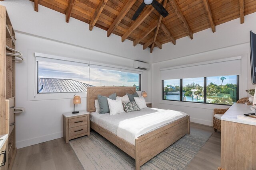
<path fill-rule="evenodd" d="M 15 139 L 15 61 L 6 45 L 15 49 L 15 33 L 4 6 L 0 6 L 0 134 L 8 134 L 6 166 L 12 169 L 16 156 Z"/>

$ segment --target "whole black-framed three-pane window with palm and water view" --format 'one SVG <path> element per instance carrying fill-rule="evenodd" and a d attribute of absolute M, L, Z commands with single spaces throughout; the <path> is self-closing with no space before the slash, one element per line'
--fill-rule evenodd
<path fill-rule="evenodd" d="M 163 80 L 163 100 L 232 105 L 238 85 L 239 75 Z"/>

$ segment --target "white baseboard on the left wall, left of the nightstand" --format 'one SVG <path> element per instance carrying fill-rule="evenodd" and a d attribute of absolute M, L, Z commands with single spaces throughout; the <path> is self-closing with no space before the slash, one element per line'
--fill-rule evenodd
<path fill-rule="evenodd" d="M 63 137 L 63 132 L 58 132 L 58 133 L 53 133 L 50 135 L 35 137 L 35 138 L 27 139 L 24 141 L 16 141 L 16 147 L 17 147 L 17 149 L 20 149 L 20 148 L 28 147 L 31 145 L 36 145 L 38 143 L 43 143 L 43 142 L 51 141 L 54 139 L 58 139 L 61 137 Z"/>

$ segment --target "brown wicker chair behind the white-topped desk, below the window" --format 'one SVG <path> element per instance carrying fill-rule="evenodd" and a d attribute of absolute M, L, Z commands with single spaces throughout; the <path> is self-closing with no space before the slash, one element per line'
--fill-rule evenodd
<path fill-rule="evenodd" d="M 249 98 L 241 98 L 239 99 L 236 103 L 238 104 L 244 104 L 244 103 L 250 103 Z M 213 114 L 224 114 L 228 109 L 213 109 Z M 217 119 L 215 116 L 213 116 L 213 122 L 212 126 L 214 128 L 214 131 L 216 132 L 217 130 L 221 131 L 221 120 Z"/>

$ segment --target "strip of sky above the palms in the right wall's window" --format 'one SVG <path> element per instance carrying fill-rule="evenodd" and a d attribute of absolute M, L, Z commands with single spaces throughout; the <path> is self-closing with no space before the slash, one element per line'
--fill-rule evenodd
<path fill-rule="evenodd" d="M 214 84 L 221 85 L 221 78 L 222 76 L 216 76 L 216 77 L 207 77 L 206 83 L 207 85 L 213 82 Z M 225 84 L 236 84 L 236 75 L 234 76 L 224 76 L 226 79 L 223 81 L 222 85 Z M 183 78 L 183 86 L 186 86 L 186 84 L 191 83 L 197 83 L 200 86 L 204 86 L 204 78 Z M 164 86 L 167 84 L 172 86 L 179 86 L 180 85 L 180 79 L 175 80 L 164 80 Z"/>

